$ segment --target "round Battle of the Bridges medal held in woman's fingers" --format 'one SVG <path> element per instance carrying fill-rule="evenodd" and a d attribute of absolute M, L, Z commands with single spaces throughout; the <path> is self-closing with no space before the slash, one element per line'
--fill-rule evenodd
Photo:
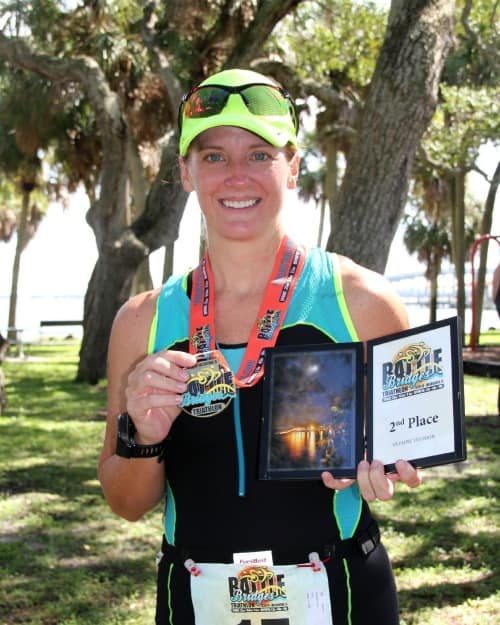
<path fill-rule="evenodd" d="M 196 359 L 196 365 L 188 369 L 188 390 L 181 408 L 193 417 L 213 417 L 236 396 L 233 373 L 218 350 L 196 354 Z"/>

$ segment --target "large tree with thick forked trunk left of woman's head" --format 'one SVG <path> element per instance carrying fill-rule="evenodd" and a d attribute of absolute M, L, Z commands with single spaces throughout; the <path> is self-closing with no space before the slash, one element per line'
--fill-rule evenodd
<path fill-rule="evenodd" d="M 78 379 L 97 382 L 104 377 L 111 324 L 129 296 L 137 267 L 153 250 L 173 245 L 177 238 L 186 202 L 176 174 L 181 85 L 224 64 L 248 66 L 274 26 L 301 1 L 228 1 L 221 8 L 215 0 L 191 0 L 183 2 L 182 11 L 177 2 L 150 2 L 143 11 L 141 3 L 132 1 L 74 12 L 64 12 L 49 0 L 33 2 L 30 8 L 36 10 L 28 12 L 16 5 L 21 11 L 17 19 L 31 36 L 18 37 L 19 28 L 10 28 L 9 36 L 0 34 L 0 57 L 53 83 L 80 88 L 95 116 L 101 145 L 99 194 L 88 212 L 99 256 L 85 296 Z M 117 39 L 122 45 L 114 54 Z M 136 74 L 129 72 L 130 48 L 145 59 L 142 68 L 134 66 Z M 162 142 L 161 159 L 144 210 L 127 223 L 130 146 L 137 150 L 141 145 L 132 114 L 137 98 L 130 95 L 139 78 L 153 75 L 163 88 L 162 135 L 153 138 Z"/>

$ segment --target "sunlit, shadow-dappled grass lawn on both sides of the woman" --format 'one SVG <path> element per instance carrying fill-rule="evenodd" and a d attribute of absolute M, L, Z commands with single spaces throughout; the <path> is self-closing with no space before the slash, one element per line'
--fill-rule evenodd
<path fill-rule="evenodd" d="M 4 364 L 0 624 L 151 625 L 161 510 L 116 518 L 96 479 L 103 385 L 73 382 L 78 345 Z M 403 625 L 490 625 L 498 591 L 498 381 L 465 377 L 468 460 L 377 503 Z M 372 624 L 367 624 L 372 625 Z M 376 624 L 373 624 L 376 625 Z"/>

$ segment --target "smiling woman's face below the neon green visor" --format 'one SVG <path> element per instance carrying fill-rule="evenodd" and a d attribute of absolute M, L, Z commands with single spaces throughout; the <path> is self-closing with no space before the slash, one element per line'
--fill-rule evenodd
<path fill-rule="evenodd" d="M 184 189 L 198 196 L 209 239 L 250 240 L 282 228 L 299 156 L 242 128 L 220 126 L 197 137 L 180 167 Z"/>

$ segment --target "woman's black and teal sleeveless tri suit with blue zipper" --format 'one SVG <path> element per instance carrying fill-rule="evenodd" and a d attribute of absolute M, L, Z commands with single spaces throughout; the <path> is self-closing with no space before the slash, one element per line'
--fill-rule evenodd
<path fill-rule="evenodd" d="M 171 277 L 157 301 L 149 351 L 189 351 L 191 272 Z M 342 291 L 337 257 L 309 250 L 277 345 L 356 341 Z M 219 345 L 233 371 L 244 345 Z M 194 625 L 184 556 L 232 562 L 232 553 L 271 549 L 275 564 L 329 557 L 326 568 L 334 625 L 396 625 L 397 596 L 385 549 L 368 554 L 358 537 L 375 535 L 356 484 L 332 491 L 311 481 L 257 477 L 262 381 L 240 389 L 220 414 L 200 419 L 184 412 L 166 443 L 164 556 L 159 565 L 156 622 Z M 329 545 L 328 553 L 322 553 Z"/>

